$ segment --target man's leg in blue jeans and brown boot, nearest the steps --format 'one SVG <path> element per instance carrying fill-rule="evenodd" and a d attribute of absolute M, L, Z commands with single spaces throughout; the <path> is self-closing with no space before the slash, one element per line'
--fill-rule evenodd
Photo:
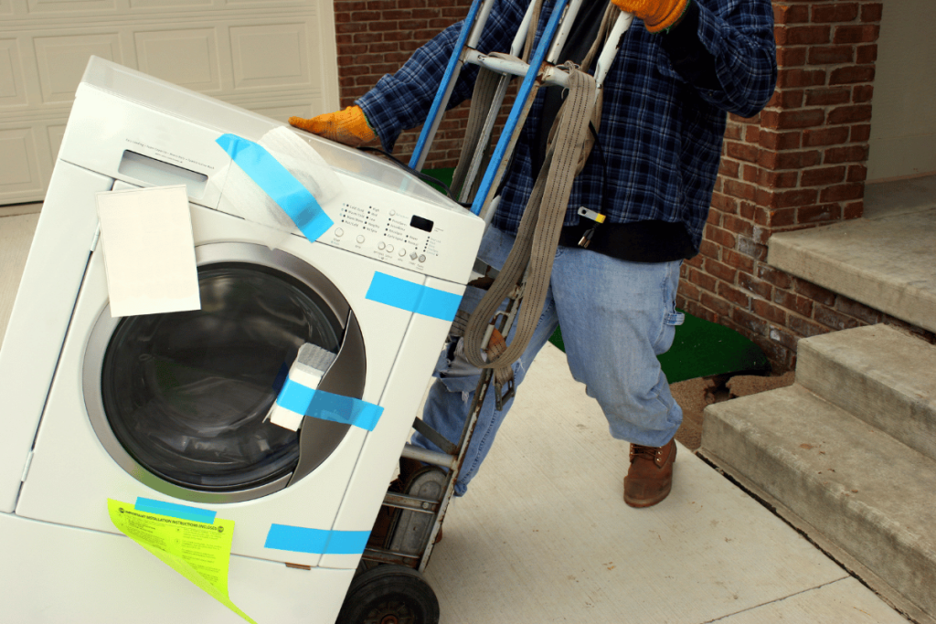
<path fill-rule="evenodd" d="M 634 263 L 562 248 L 552 292 L 569 368 L 605 413 L 611 435 L 632 443 L 624 500 L 662 501 L 672 483 L 680 406 L 656 356 L 672 345 L 680 262 Z"/>

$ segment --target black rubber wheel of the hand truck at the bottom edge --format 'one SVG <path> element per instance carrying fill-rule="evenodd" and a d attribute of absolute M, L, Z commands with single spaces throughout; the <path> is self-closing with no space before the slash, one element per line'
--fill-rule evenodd
<path fill-rule="evenodd" d="M 351 581 L 336 624 L 438 624 L 439 601 L 422 574 L 379 565 Z"/>

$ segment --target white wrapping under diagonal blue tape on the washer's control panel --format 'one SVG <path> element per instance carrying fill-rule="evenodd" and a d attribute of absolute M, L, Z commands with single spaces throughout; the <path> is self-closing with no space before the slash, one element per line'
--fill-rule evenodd
<path fill-rule="evenodd" d="M 322 210 L 330 211 L 329 204 L 342 194 L 344 186 L 325 159 L 308 142 L 289 128 L 278 126 L 256 143 L 270 152 L 314 196 Z M 264 237 L 265 243 L 271 249 L 278 247 L 290 234 L 300 233 L 289 215 L 241 167 L 234 162 L 227 167 L 218 210 L 271 228 L 263 230 L 268 235 Z"/>

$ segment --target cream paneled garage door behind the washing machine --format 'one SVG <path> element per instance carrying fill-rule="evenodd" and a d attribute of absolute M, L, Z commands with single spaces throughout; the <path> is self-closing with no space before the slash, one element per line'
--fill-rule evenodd
<path fill-rule="evenodd" d="M 331 0 L 0 0 L 0 206 L 41 200 L 92 54 L 285 121 L 338 108 Z"/>

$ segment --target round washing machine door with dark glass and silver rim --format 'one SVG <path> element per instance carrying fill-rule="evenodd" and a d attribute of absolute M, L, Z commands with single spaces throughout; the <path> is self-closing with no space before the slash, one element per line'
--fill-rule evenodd
<path fill-rule="evenodd" d="M 201 310 L 98 317 L 84 398 L 101 443 L 124 470 L 169 496 L 247 501 L 295 483 L 348 425 L 267 420 L 300 346 L 336 358 L 318 386 L 361 398 L 363 338 L 333 283 L 299 258 L 246 243 L 198 246 Z"/>

